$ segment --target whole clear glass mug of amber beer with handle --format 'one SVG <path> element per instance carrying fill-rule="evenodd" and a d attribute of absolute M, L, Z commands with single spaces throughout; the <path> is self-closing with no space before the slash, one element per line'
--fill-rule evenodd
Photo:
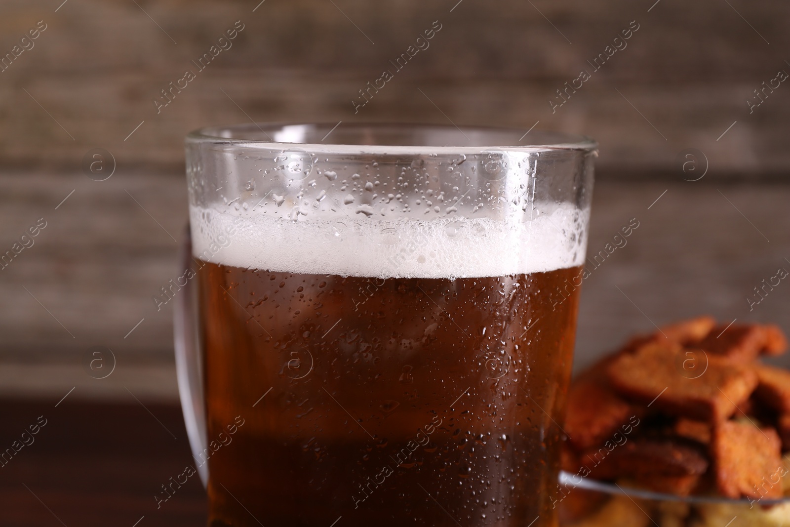
<path fill-rule="evenodd" d="M 209 525 L 556 525 L 585 137 L 186 138 L 179 390 Z"/>

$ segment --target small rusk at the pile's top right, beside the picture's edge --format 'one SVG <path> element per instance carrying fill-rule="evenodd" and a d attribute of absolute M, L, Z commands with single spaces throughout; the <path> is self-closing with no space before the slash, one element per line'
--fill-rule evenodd
<path fill-rule="evenodd" d="M 736 363 L 751 363 L 762 352 L 777 355 L 784 351 L 784 335 L 777 326 L 758 324 L 717 326 L 699 342 L 698 347 Z"/>

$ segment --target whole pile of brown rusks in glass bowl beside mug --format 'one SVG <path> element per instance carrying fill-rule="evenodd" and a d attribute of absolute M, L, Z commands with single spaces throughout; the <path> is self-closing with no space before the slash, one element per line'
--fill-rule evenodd
<path fill-rule="evenodd" d="M 690 506 L 574 488 L 560 503 L 563 523 L 724 519 L 724 527 L 739 516 L 730 527 L 790 527 L 790 503 L 775 501 L 790 494 L 783 454 L 790 450 L 790 371 L 760 360 L 786 348 L 777 326 L 719 326 L 700 317 L 634 337 L 579 375 L 568 394 L 563 470 L 623 488 L 742 502 Z"/>

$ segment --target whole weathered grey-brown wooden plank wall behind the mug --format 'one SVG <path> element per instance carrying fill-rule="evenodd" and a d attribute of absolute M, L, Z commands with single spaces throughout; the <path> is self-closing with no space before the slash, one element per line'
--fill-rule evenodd
<path fill-rule="evenodd" d="M 631 217 L 645 227 L 585 282 L 578 363 L 652 327 L 631 300 L 659 324 L 711 312 L 790 329 L 787 292 L 745 311 L 752 288 L 790 258 L 790 87 L 752 113 L 746 102 L 790 72 L 786 2 L 258 1 L 0 4 L 0 58 L 47 25 L 0 72 L 0 250 L 48 222 L 0 270 L 0 392 L 177 397 L 171 307 L 155 311 L 151 295 L 179 271 L 182 138 L 249 119 L 525 131 L 540 121 L 589 134 L 600 141 L 590 250 Z M 157 114 L 160 90 L 197 70 L 192 61 L 236 21 L 232 47 Z M 430 47 L 355 114 L 358 90 L 394 70 L 389 61 L 434 21 Z M 592 71 L 587 61 L 632 21 L 627 46 L 552 113 L 555 91 Z M 100 183 L 80 168 L 95 147 L 117 160 Z M 709 160 L 702 182 L 681 180 L 676 160 L 688 148 Z M 101 381 L 84 371 L 95 345 L 118 361 Z"/>

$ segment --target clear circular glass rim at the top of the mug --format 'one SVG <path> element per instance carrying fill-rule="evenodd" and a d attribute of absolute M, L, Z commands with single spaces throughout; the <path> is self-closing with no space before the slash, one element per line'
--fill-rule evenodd
<path fill-rule="evenodd" d="M 386 122 L 355 122 L 342 125 L 340 133 L 350 134 L 357 139 L 324 142 L 323 140 L 333 132 L 336 132 L 335 137 L 338 136 L 336 129 L 340 123 L 247 122 L 228 126 L 206 126 L 187 134 L 185 143 L 186 145 L 241 146 L 246 149 L 262 150 L 304 148 L 316 152 L 383 155 L 411 153 L 439 156 L 455 152 L 484 152 L 492 149 L 517 152 L 555 150 L 595 152 L 598 148 L 598 143 L 591 137 L 551 130 L 529 130 L 527 132 L 529 142 L 519 144 L 527 134 L 522 134 L 522 130 L 513 128 Z M 269 139 L 260 138 L 261 133 Z M 313 134 L 315 139 L 310 134 Z M 395 137 L 401 137 L 401 140 L 387 139 L 385 134 L 400 134 Z M 472 135 L 474 140 L 467 134 Z M 323 139 L 318 139 L 318 137 L 323 137 Z M 364 139 L 360 140 L 363 137 Z M 404 141 L 403 138 L 408 138 L 408 141 Z M 448 142 L 448 139 L 452 139 L 452 141 Z"/>

